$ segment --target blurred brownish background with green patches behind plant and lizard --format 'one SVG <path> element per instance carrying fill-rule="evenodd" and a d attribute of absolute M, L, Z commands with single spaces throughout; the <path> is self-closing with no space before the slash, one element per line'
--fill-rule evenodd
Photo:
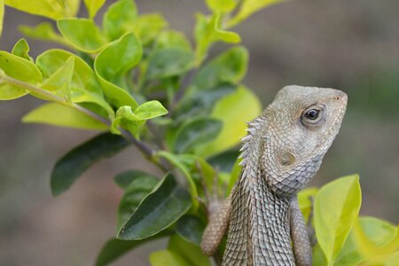
<path fill-rule="evenodd" d="M 199 0 L 137 0 L 137 7 L 161 12 L 170 27 L 189 36 L 194 13 L 207 13 Z M 83 7 L 80 16 L 86 16 Z M 22 37 L 18 25 L 43 20 L 6 8 L 0 49 L 11 51 Z M 398 223 L 399 1 L 291 1 L 254 14 L 234 30 L 250 51 L 244 83 L 263 106 L 288 84 L 348 93 L 340 134 L 311 185 L 358 173 L 361 214 Z M 56 47 L 27 41 L 34 58 Z M 113 176 L 127 168 L 157 172 L 130 147 L 53 199 L 49 176 L 55 161 L 96 133 L 22 124 L 21 116 L 40 104 L 30 97 L 0 102 L 0 265 L 91 265 L 115 233 L 121 189 Z M 163 245 L 145 245 L 113 265 L 148 265 L 148 254 Z"/>

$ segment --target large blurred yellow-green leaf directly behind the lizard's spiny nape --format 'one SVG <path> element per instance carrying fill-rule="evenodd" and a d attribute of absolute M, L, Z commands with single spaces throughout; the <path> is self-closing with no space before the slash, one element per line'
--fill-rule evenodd
<path fill-rule="evenodd" d="M 253 120 L 262 112 L 262 106 L 254 93 L 244 86 L 222 98 L 215 106 L 211 117 L 223 121 L 223 129 L 211 142 L 200 147 L 198 154 L 204 157 L 222 153 L 238 145 L 246 136 L 246 121 Z"/>

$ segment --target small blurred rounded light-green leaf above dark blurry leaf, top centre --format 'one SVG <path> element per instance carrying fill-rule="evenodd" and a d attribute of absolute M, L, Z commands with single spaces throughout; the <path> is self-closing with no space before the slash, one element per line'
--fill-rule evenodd
<path fill-rule="evenodd" d="M 192 44 L 187 40 L 185 35 L 180 31 L 176 31 L 173 29 L 164 30 L 158 35 L 154 49 L 163 49 L 163 48 L 181 48 L 185 50 L 192 50 Z"/>

